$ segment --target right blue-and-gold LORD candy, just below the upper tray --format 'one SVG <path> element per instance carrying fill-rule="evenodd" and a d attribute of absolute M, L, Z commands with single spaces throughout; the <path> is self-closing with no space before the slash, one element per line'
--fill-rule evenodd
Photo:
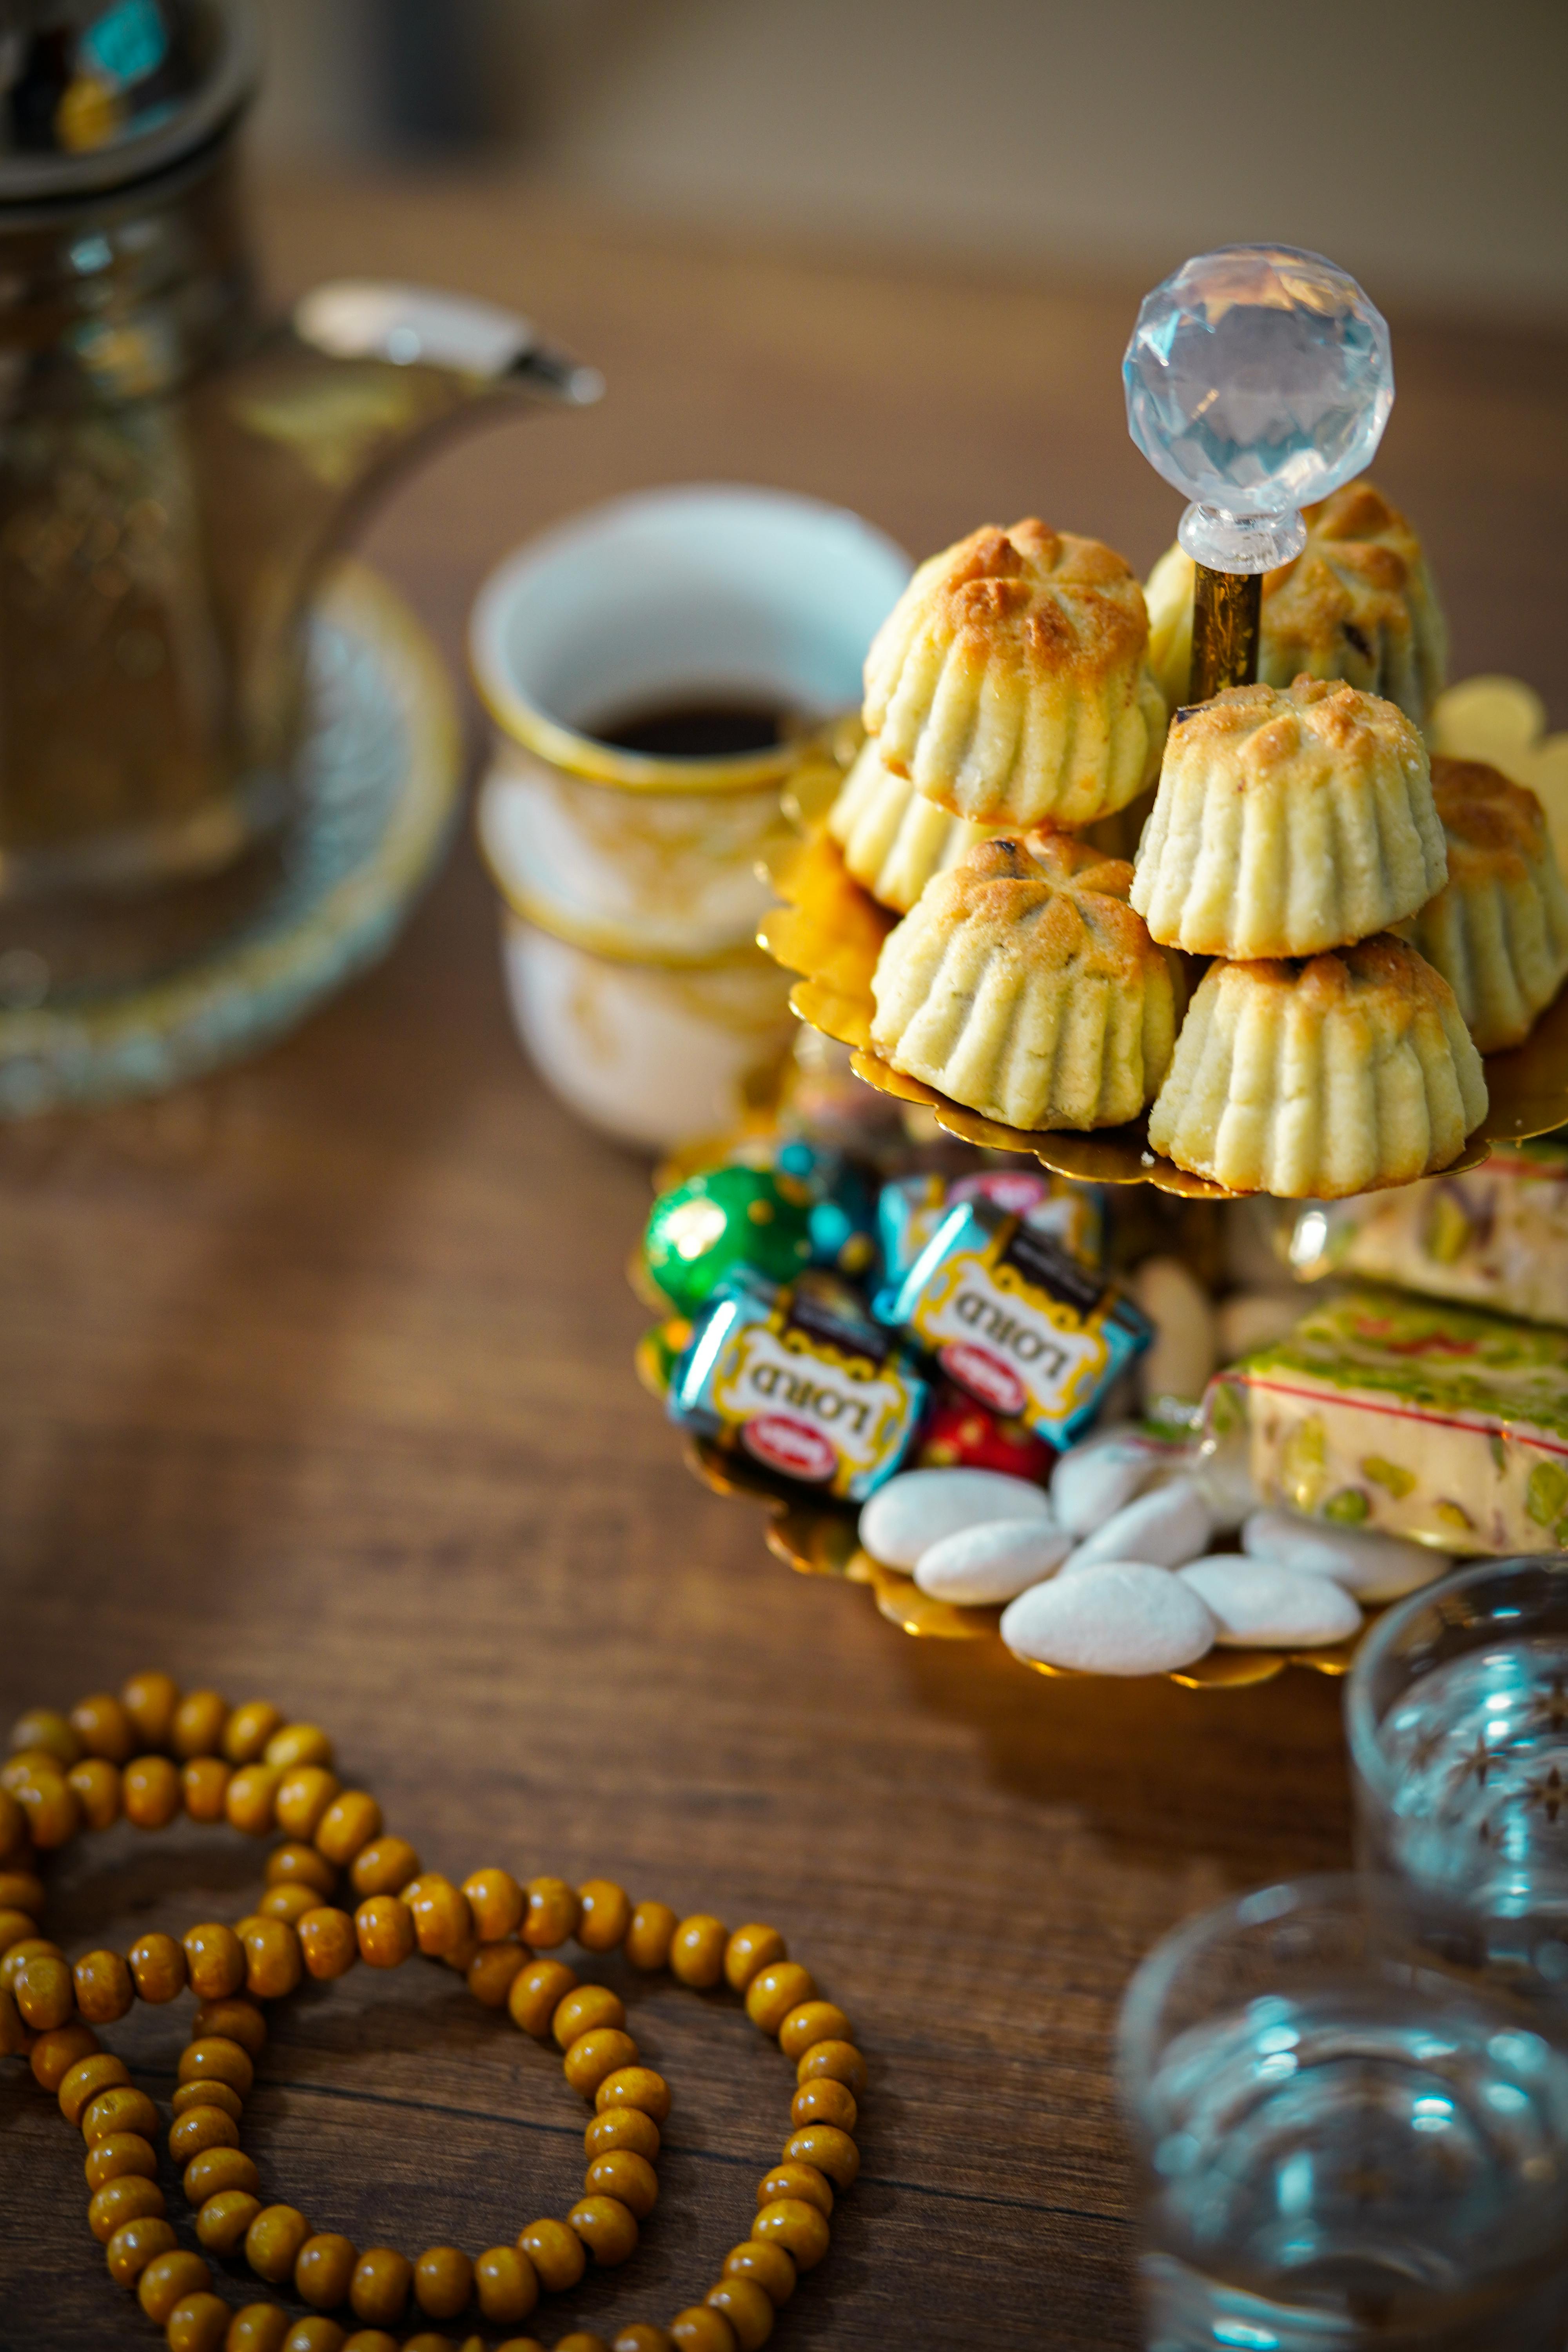
<path fill-rule="evenodd" d="M 1067 1444 L 1154 1331 L 1027 1218 L 969 1200 L 898 1284 L 889 1319 L 994 1414 Z"/>

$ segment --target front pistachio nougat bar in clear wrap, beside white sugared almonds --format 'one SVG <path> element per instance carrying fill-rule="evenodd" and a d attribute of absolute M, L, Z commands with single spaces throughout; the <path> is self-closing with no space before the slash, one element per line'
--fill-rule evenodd
<path fill-rule="evenodd" d="M 1354 1289 L 1208 1390 L 1269 1503 L 1448 1552 L 1568 1548 L 1568 1331 Z"/>

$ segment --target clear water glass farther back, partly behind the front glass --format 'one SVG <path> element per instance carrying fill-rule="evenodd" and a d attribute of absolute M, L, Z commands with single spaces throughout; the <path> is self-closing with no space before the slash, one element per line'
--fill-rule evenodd
<path fill-rule="evenodd" d="M 1356 1860 L 1472 1907 L 1521 1987 L 1568 1983 L 1568 1562 L 1486 1559 L 1389 1609 L 1345 1726 Z"/>

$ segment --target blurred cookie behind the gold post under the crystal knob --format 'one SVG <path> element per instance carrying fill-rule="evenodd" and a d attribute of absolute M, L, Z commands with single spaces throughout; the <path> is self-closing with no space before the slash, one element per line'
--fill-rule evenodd
<path fill-rule="evenodd" d="M 1422 543 L 1371 482 L 1305 508 L 1307 546 L 1262 579 L 1258 677 L 1345 677 L 1425 727 L 1443 691 L 1448 630 Z M 1192 670 L 1192 557 L 1166 548 L 1147 586 L 1150 661 L 1175 710 Z"/>

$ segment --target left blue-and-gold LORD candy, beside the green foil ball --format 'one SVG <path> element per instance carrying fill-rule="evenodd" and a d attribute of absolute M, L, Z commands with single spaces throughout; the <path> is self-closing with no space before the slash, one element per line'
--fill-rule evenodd
<path fill-rule="evenodd" d="M 907 1352 L 827 1272 L 778 1287 L 731 1270 L 670 1381 L 682 1428 L 851 1503 L 898 1470 L 924 1402 Z"/>

